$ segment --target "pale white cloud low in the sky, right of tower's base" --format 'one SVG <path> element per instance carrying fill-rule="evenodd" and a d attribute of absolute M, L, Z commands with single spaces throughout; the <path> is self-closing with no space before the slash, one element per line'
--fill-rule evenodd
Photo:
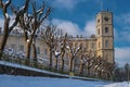
<path fill-rule="evenodd" d="M 130 63 L 130 47 L 116 47 L 115 48 L 115 59 L 119 65 L 125 65 L 126 63 Z"/>

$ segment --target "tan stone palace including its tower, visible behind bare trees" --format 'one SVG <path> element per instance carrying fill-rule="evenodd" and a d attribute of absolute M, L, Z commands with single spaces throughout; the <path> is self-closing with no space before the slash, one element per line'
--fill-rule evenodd
<path fill-rule="evenodd" d="M 91 35 L 89 38 L 83 36 L 72 37 L 70 41 L 74 46 L 82 44 L 88 51 L 92 51 L 96 57 L 106 60 L 109 63 L 115 62 L 114 58 L 114 29 L 113 29 L 113 13 L 109 11 L 101 11 L 98 13 L 96 18 L 96 34 Z M 24 36 L 17 35 L 14 30 L 10 34 L 6 42 L 6 48 L 13 48 L 18 51 L 26 49 Z M 1 41 L 2 32 L 0 34 Z M 48 45 L 41 38 L 36 39 L 37 53 L 41 58 L 49 58 Z M 68 52 L 69 53 L 69 52 Z M 66 53 L 66 57 L 69 55 Z"/>

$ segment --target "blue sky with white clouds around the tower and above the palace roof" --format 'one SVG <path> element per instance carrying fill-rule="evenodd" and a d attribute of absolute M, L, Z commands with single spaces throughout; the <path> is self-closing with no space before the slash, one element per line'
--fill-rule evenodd
<path fill-rule="evenodd" d="M 23 3 L 23 0 L 13 1 L 16 5 Z M 43 0 L 36 1 L 38 4 L 43 2 Z M 120 65 L 130 63 L 130 0 L 46 0 L 46 2 L 52 7 L 49 22 L 72 35 L 95 34 L 96 14 L 102 10 L 112 11 L 116 62 Z"/>

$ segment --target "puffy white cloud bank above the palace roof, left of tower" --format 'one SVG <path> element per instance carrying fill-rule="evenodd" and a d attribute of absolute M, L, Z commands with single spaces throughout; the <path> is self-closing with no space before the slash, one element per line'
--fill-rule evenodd
<path fill-rule="evenodd" d="M 79 28 L 78 24 L 65 20 L 53 18 L 52 24 L 56 25 L 57 28 L 62 29 L 64 33 L 68 33 L 69 35 L 74 36 L 90 36 L 95 34 L 95 23 L 93 20 L 88 21 L 83 29 Z"/>

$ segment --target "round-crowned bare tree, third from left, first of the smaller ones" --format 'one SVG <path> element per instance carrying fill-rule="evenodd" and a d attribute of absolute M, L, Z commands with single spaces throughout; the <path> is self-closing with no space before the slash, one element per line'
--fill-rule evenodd
<path fill-rule="evenodd" d="M 41 33 L 44 42 L 48 45 L 50 50 L 50 70 L 52 69 L 52 54 L 54 52 L 55 46 L 57 45 L 58 32 L 53 25 L 47 26 Z"/>

